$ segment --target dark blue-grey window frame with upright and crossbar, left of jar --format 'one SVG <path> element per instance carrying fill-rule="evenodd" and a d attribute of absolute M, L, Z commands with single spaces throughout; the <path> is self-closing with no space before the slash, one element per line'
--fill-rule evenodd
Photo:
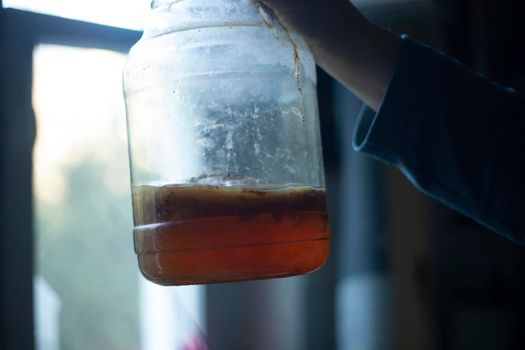
<path fill-rule="evenodd" d="M 33 50 L 41 43 L 127 52 L 141 32 L 3 8 L 0 0 L 0 348 L 35 348 Z"/>

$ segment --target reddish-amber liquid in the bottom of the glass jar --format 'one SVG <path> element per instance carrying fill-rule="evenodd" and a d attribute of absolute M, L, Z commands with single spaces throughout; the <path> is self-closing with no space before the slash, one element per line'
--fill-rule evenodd
<path fill-rule="evenodd" d="M 162 285 L 298 275 L 328 256 L 321 189 L 140 186 L 133 211 L 140 269 Z"/>

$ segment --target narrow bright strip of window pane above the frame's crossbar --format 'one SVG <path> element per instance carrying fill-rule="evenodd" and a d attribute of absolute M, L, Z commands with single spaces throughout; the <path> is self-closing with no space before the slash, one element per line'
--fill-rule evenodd
<path fill-rule="evenodd" d="M 4 7 L 128 29 L 142 29 L 150 0 L 3 0 Z"/>

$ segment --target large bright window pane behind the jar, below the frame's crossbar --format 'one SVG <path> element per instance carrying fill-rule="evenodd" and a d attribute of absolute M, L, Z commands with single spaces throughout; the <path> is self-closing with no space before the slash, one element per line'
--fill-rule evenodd
<path fill-rule="evenodd" d="M 119 53 L 52 45 L 34 53 L 38 349 L 204 344 L 202 288 L 157 287 L 138 272 L 124 61 Z"/>

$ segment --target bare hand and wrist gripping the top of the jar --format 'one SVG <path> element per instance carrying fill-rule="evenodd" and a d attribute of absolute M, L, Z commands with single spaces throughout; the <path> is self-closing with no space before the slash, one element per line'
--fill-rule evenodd
<path fill-rule="evenodd" d="M 374 110 L 399 56 L 398 35 L 369 22 L 348 0 L 255 0 L 309 44 L 317 63 Z"/>

